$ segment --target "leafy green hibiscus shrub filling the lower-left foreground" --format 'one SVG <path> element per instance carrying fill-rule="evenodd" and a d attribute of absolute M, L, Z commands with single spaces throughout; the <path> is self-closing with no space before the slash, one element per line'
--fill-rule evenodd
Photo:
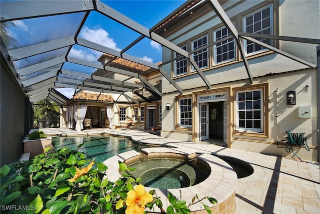
<path fill-rule="evenodd" d="M 126 198 L 129 191 L 132 195 L 132 191 L 135 191 L 134 185 L 138 184 L 141 178 L 134 179 L 125 172 L 134 169 L 119 162 L 121 177 L 111 182 L 107 178 L 103 179 L 107 166 L 94 162 L 94 158 L 87 160 L 83 153 L 68 148 L 46 153 L 48 150 L 31 160 L 0 168 L 1 213 L 12 213 L 12 210 L 9 210 L 12 206 L 24 207 L 24 210 L 18 213 L 135 213 L 127 212 Z M 154 190 L 145 194 L 151 194 L 153 198 L 145 204 L 146 207 L 162 207 L 162 202 Z M 168 214 L 190 213 L 184 200 L 177 200 L 171 194 L 168 197 L 171 203 L 166 209 Z M 196 202 L 200 203 L 204 198 L 211 203 L 216 202 L 211 197 L 199 200 L 196 195 L 192 204 L 196 203 L 195 198 Z M 211 213 L 208 206 L 203 206 Z"/>

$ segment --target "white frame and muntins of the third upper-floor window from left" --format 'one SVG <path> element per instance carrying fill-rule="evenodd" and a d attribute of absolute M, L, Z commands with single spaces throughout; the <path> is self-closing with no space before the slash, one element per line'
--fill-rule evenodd
<path fill-rule="evenodd" d="M 234 22 L 232 24 L 233 24 L 233 26 L 235 25 Z M 220 38 L 217 39 L 216 38 L 216 32 L 221 31 L 221 35 L 222 35 L 222 30 L 223 29 L 226 29 L 227 34 L 223 35 L 223 36 L 221 36 Z M 214 42 L 218 41 L 220 39 L 223 39 L 224 37 L 230 36 L 230 35 L 231 35 L 231 33 L 229 32 L 229 30 L 225 26 L 213 31 Z M 232 46 L 233 47 L 233 58 L 229 58 L 229 56 L 228 56 L 228 53 L 230 52 L 229 44 L 231 44 L 231 43 L 233 43 L 233 46 Z M 222 55 L 225 53 L 225 52 L 223 52 L 223 47 L 225 47 L 225 46 L 227 47 L 227 50 L 226 50 L 226 54 L 227 54 L 227 58 L 228 58 L 227 60 L 223 60 L 223 57 L 222 57 Z M 217 48 L 219 48 L 219 47 L 221 47 L 221 61 L 217 62 Z M 221 64 L 221 63 L 225 63 L 225 62 L 229 62 L 229 61 L 235 60 L 235 54 L 236 54 L 236 52 L 235 52 L 235 40 L 234 40 L 234 38 L 225 40 L 225 41 L 221 42 L 220 44 L 216 44 L 216 45 L 214 45 L 214 64 L 218 65 L 218 64 Z"/>

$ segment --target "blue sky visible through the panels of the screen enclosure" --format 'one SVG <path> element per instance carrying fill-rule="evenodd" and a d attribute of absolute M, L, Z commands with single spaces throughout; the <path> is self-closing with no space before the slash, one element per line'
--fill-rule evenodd
<path fill-rule="evenodd" d="M 77 0 L 74 0 L 77 1 Z M 107 6 L 120 12 L 124 16 L 130 18 L 143 27 L 150 29 L 159 21 L 173 12 L 182 5 L 183 0 L 142 0 L 142 1 L 102 1 Z M 28 20 L 14 21 L 17 29 L 11 29 L 10 32 L 14 38 L 18 40 L 20 45 L 28 46 L 38 42 L 46 42 L 59 38 L 73 36 L 77 26 L 79 25 L 84 13 L 59 15 L 54 17 L 42 17 Z M 48 25 L 49 23 L 49 25 Z M 54 29 L 54 31 L 53 31 Z M 95 42 L 97 44 L 122 50 L 127 45 L 137 39 L 140 34 L 128 29 L 115 21 L 97 13 L 90 12 L 87 20 L 80 31 L 79 37 Z M 44 59 L 53 59 L 61 56 L 63 50 L 51 51 L 42 54 L 40 57 Z M 161 61 L 161 46 L 147 38 L 141 40 L 135 46 L 125 52 L 137 58 L 157 63 Z M 74 45 L 69 53 L 69 57 L 74 57 L 90 62 L 97 63 L 97 59 L 102 55 L 88 48 Z M 27 67 L 39 61 L 39 56 L 29 57 L 27 60 L 19 60 L 16 62 L 16 69 Z M 63 69 L 79 71 L 84 73 L 93 73 L 96 69 L 76 65 L 72 63 L 64 63 Z M 67 97 L 71 97 L 74 90 L 60 90 Z"/>

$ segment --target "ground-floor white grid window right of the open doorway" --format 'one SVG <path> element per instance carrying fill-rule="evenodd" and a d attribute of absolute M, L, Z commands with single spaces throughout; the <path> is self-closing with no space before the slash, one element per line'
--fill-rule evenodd
<path fill-rule="evenodd" d="M 262 132 L 262 90 L 236 93 L 237 129 Z"/>

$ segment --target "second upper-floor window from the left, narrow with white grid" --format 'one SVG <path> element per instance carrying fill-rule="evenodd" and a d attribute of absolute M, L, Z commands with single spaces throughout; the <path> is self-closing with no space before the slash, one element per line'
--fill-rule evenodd
<path fill-rule="evenodd" d="M 199 66 L 200 69 L 208 67 L 208 49 L 201 47 L 206 46 L 208 44 L 208 36 L 205 35 L 199 39 L 196 39 L 191 42 L 192 44 L 192 51 L 198 50 L 192 54 L 192 57 L 196 64 Z"/>

